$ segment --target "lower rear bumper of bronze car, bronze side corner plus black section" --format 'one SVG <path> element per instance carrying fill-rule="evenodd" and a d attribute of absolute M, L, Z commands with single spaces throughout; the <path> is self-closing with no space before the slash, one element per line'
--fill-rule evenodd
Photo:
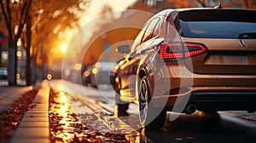
<path fill-rule="evenodd" d="M 256 87 L 250 88 L 193 88 L 185 94 L 154 97 L 154 106 L 172 110 L 173 106 L 196 106 L 199 111 L 256 111 Z"/>

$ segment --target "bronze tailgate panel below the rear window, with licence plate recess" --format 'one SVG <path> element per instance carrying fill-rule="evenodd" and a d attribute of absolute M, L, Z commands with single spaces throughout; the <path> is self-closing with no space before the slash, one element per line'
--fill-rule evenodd
<path fill-rule="evenodd" d="M 241 47 L 241 39 L 188 38 L 184 41 L 196 41 L 207 46 L 207 54 L 192 57 L 193 64 L 187 64 L 189 71 L 195 73 L 233 73 L 255 74 L 256 40 L 242 39 L 246 46 Z"/>

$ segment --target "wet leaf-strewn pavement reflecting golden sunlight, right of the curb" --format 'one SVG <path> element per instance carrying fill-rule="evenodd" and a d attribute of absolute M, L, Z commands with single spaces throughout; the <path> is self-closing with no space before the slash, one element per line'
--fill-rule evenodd
<path fill-rule="evenodd" d="M 125 133 L 111 129 L 102 120 L 102 117 L 111 115 L 106 112 L 94 111 L 76 95 L 51 90 L 49 99 L 49 129 L 52 140 L 61 142 L 127 142 Z"/>

